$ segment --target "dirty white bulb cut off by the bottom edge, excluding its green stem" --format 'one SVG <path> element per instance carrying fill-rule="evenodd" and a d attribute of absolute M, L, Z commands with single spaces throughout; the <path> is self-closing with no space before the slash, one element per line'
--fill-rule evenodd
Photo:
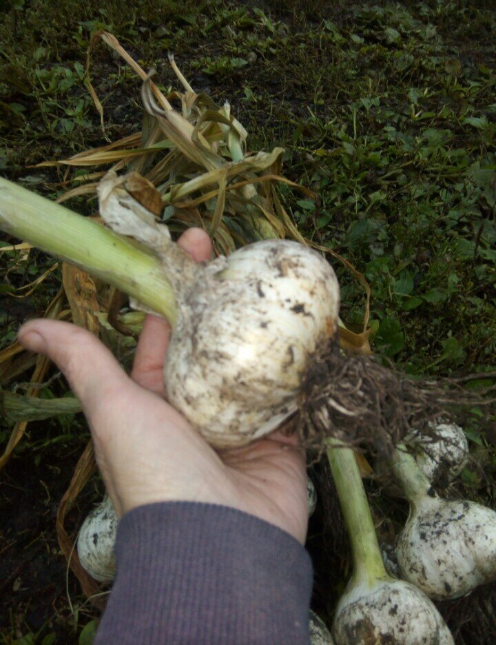
<path fill-rule="evenodd" d="M 403 580 L 349 584 L 336 609 L 336 645 L 453 645 L 433 602 Z"/>

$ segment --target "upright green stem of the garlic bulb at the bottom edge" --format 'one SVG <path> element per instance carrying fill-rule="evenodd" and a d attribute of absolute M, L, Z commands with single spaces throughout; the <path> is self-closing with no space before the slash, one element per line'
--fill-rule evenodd
<path fill-rule="evenodd" d="M 353 553 L 353 578 L 372 586 L 388 577 L 373 525 L 362 476 L 351 448 L 340 447 L 335 439 L 327 442 L 327 458 L 341 504 Z"/>

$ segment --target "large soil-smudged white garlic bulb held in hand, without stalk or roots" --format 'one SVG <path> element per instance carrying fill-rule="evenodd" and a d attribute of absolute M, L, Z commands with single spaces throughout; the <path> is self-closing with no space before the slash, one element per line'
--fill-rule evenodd
<path fill-rule="evenodd" d="M 332 267 L 289 240 L 214 260 L 177 300 L 167 400 L 219 448 L 262 437 L 296 410 L 309 356 L 338 325 Z"/>

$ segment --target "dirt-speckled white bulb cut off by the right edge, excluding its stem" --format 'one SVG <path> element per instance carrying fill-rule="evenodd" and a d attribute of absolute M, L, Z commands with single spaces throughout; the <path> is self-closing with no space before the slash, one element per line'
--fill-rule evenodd
<path fill-rule="evenodd" d="M 400 573 L 434 600 L 496 580 L 496 513 L 466 500 L 413 505 L 396 548 Z"/>

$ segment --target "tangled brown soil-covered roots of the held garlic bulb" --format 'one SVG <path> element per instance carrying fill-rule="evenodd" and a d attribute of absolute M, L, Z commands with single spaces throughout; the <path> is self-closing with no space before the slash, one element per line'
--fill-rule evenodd
<path fill-rule="evenodd" d="M 417 433 L 437 439 L 433 422 L 451 420 L 455 409 L 492 405 L 494 413 L 494 402 L 484 393 L 462 389 L 455 379 L 416 380 L 373 356 L 344 354 L 334 340 L 307 371 L 298 432 L 307 447 L 320 451 L 332 436 L 375 455 L 390 455 Z"/>

